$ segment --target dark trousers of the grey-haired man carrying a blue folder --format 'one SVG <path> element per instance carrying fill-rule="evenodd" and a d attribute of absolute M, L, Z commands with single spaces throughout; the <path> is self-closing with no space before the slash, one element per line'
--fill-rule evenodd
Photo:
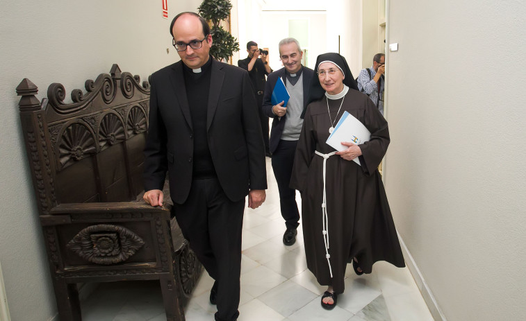
<path fill-rule="evenodd" d="M 296 190 L 288 186 L 293 171 L 296 146 L 297 141 L 281 139 L 276 150 L 272 153 L 272 170 L 278 183 L 281 216 L 285 219 L 285 225 L 288 229 L 295 229 L 299 225 Z"/>

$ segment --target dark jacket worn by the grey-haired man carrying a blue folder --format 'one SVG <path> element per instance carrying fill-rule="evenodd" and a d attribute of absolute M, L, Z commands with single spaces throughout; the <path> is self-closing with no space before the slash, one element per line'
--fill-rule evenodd
<path fill-rule="evenodd" d="M 309 89 L 311 87 L 311 80 L 314 75 L 314 71 L 308 67 L 303 66 L 303 114 L 305 113 L 306 107 L 307 107 L 307 101 L 309 101 Z M 281 119 L 274 115 L 272 112 L 272 90 L 274 90 L 274 86 L 276 85 L 276 82 L 278 78 L 283 78 L 283 80 L 286 80 L 285 76 L 285 67 L 274 71 L 273 73 L 270 73 L 267 78 L 267 84 L 265 85 L 265 94 L 263 95 L 263 106 L 261 109 L 263 110 L 263 114 L 270 118 L 274 118 L 272 121 L 272 130 L 270 130 L 270 140 L 269 140 L 269 149 L 270 153 L 274 153 L 276 148 L 279 144 L 279 139 L 281 139 L 281 134 L 283 133 L 283 127 L 285 126 L 285 119 L 286 116 L 281 117 Z"/>

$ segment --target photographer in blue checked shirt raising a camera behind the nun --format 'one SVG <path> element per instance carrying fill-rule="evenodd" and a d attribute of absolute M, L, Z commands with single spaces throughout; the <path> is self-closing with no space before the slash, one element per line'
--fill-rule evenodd
<path fill-rule="evenodd" d="M 378 110 L 384 115 L 384 73 L 386 72 L 386 55 L 377 53 L 372 58 L 372 67 L 360 71 L 357 78 L 358 89 L 371 98 Z"/>

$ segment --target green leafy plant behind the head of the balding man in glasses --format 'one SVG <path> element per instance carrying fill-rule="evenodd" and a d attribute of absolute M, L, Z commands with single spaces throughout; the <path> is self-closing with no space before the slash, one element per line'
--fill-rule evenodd
<path fill-rule="evenodd" d="M 239 51 L 239 43 L 229 31 L 220 26 L 221 21 L 229 19 L 232 4 L 229 0 L 204 0 L 199 6 L 199 15 L 211 21 L 212 47 L 210 54 L 215 60 L 229 60 Z"/>

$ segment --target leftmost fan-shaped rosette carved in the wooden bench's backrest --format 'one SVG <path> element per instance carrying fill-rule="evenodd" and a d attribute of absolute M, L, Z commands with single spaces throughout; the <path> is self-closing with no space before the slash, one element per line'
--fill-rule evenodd
<path fill-rule="evenodd" d="M 82 123 L 69 125 L 60 139 L 58 153 L 63 168 L 97 153 L 95 139 L 88 127 Z"/>

